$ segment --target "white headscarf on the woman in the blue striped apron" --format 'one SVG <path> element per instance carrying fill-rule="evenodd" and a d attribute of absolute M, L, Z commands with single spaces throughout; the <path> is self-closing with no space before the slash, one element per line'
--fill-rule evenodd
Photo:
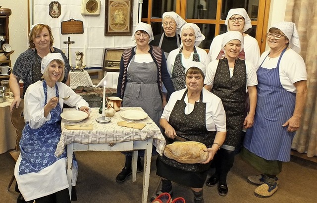
<path fill-rule="evenodd" d="M 301 52 L 301 43 L 295 23 L 287 21 L 279 22 L 272 25 L 271 28 L 280 29 L 288 38 L 289 47 L 297 53 Z"/>

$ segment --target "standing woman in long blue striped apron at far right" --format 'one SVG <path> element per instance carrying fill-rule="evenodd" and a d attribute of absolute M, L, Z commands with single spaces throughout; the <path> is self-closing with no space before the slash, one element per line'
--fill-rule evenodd
<path fill-rule="evenodd" d="M 259 185 L 254 194 L 273 195 L 282 162 L 290 160 L 291 144 L 307 97 L 307 73 L 299 55 L 300 41 L 292 22 L 274 24 L 266 34 L 270 48 L 265 51 L 257 71 L 258 102 L 254 126 L 247 130 L 243 157 L 262 174 L 249 176 Z"/>

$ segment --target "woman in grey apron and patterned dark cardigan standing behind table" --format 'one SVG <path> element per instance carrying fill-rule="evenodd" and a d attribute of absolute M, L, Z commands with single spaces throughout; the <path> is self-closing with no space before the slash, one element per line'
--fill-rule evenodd
<path fill-rule="evenodd" d="M 166 59 L 159 47 L 149 45 L 149 42 L 153 40 L 150 24 L 140 22 L 131 39 L 135 40 L 137 46 L 123 51 L 117 96 L 123 99 L 122 106 L 124 107 L 142 107 L 159 126 L 162 114 L 162 84 L 169 94 L 174 92 L 166 69 Z M 125 165 L 115 179 L 117 182 L 125 181 L 132 173 L 132 152 L 125 152 L 125 154 Z M 142 152 L 139 152 L 140 154 L 142 155 Z M 143 167 L 138 157 L 137 172 L 141 171 Z"/>

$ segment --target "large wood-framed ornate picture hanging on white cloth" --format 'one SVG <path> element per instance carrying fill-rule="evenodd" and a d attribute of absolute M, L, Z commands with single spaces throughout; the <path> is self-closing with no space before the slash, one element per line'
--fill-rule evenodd
<path fill-rule="evenodd" d="M 133 0 L 106 0 L 105 35 L 132 35 Z"/>

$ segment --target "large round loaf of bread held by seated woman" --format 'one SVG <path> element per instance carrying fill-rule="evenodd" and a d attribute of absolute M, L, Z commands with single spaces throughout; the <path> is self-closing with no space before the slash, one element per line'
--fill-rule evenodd
<path fill-rule="evenodd" d="M 206 145 L 200 142 L 174 142 L 166 145 L 164 155 L 180 163 L 202 163 L 205 162 L 209 153 L 204 152 Z"/>

